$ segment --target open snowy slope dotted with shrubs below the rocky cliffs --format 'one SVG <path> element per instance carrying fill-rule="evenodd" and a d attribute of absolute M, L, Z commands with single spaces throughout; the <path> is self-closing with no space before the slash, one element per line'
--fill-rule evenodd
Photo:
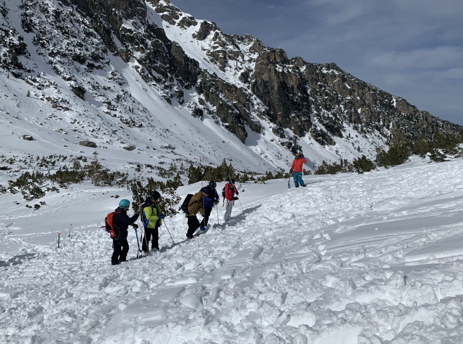
<path fill-rule="evenodd" d="M 19 13 L 15 12 L 14 8 L 17 4 L 12 1 L 7 4 L 11 6 L 8 12 L 10 23 L 7 24 L 16 27 L 19 22 Z M 52 13 L 53 6 L 56 7 L 57 4 L 54 1 L 45 1 L 40 6 L 45 7 L 43 11 Z M 71 13 L 69 18 L 76 20 L 70 8 L 68 10 Z M 39 11 L 38 14 L 40 14 Z M 47 20 L 45 16 L 38 16 L 38 19 L 42 20 L 39 24 L 45 25 Z M 77 38 L 81 37 L 79 30 L 82 28 L 75 27 L 74 29 L 76 39 L 72 40 L 71 37 L 61 42 L 53 37 L 53 32 L 50 32 L 48 36 L 52 42 L 54 41 L 50 42 L 50 45 L 61 44 L 60 50 L 62 51 L 75 45 Z M 32 42 L 35 37 L 31 33 L 22 31 L 20 25 L 18 32 L 23 35 L 28 46 L 33 46 Z M 103 48 L 100 47 L 100 49 Z M 128 161 L 154 163 L 160 158 L 163 160 L 181 158 L 187 161 L 196 160 L 201 156 L 206 158 L 206 163 L 216 163 L 225 157 L 236 161 L 241 168 L 254 170 L 275 168 L 275 164 L 261 160 L 256 153 L 242 145 L 235 136 L 230 135 L 229 131 L 220 125 L 215 125 L 212 120 L 195 119 L 186 106 L 170 106 L 155 88 L 142 80 L 133 68 L 137 63 L 126 64 L 119 57 L 107 56 L 106 63 L 110 65 L 109 67 L 100 66 L 103 69 L 96 69 L 88 74 L 83 73 L 82 67 L 76 66 L 72 60 L 51 59 L 49 62 L 56 63 L 53 67 L 58 66 L 63 69 L 56 72 L 45 61 L 40 61 L 46 54 L 43 50 L 38 49 L 38 54 L 31 54 L 30 61 L 24 59 L 25 65 L 37 66 L 36 70 L 40 71 L 38 76 L 26 78 L 26 81 L 32 83 L 33 86 L 38 86 L 41 90 L 34 90 L 31 85 L 13 77 L 7 78 L 6 71 L 0 75 L 2 78 L 1 91 L 5 97 L 0 120 L 7 124 L 12 121 L 12 116 L 18 117 L 13 119 L 15 123 L 1 126 L 3 135 L 13 135 L 11 134 L 13 130 L 14 135 L 17 135 L 8 144 L 3 143 L 3 147 L 6 148 L 5 153 L 7 153 L 6 150 L 12 150 L 13 155 L 20 154 L 24 143 L 18 140 L 19 136 L 33 134 L 32 136 L 35 135 L 34 138 L 38 138 L 42 143 L 53 141 L 50 147 L 41 147 L 44 152 L 55 152 L 56 147 L 59 147 L 58 151 L 63 154 L 69 152 L 77 154 L 79 150 L 83 150 L 83 153 L 93 152 L 94 149 L 76 146 L 80 140 L 89 139 L 97 144 L 97 151 L 101 155 L 110 158 L 127 156 L 122 150 L 123 147 L 137 147 L 137 152 L 141 154 L 134 156 L 132 153 L 124 157 Z M 63 80 L 72 78 L 70 75 L 75 76 L 75 81 Z M 85 100 L 81 100 L 72 93 L 69 94 L 69 86 L 74 83 L 92 84 L 94 92 L 86 92 Z M 31 97 L 26 97 L 28 90 L 31 91 Z M 103 102 L 114 101 L 119 96 L 120 105 L 104 106 Z M 51 107 L 53 103 L 46 97 L 53 99 L 53 102 L 56 101 L 57 107 Z M 117 108 L 119 111 L 110 112 L 109 108 Z M 66 109 L 69 110 L 63 111 Z M 31 113 L 35 114 L 34 118 L 27 117 Z M 142 128 L 138 128 L 139 125 L 143 125 Z M 48 129 L 47 138 L 42 137 L 42 133 L 39 132 L 45 129 Z M 52 131 L 58 131 L 59 135 L 55 135 Z M 48 137 L 50 134 L 53 138 Z M 72 135 L 63 137 L 62 134 Z M 64 147 L 65 145 L 67 147 Z M 261 145 L 256 143 L 256 147 L 259 146 L 262 146 L 261 150 L 268 149 L 265 142 Z M 107 148 L 108 152 L 101 153 L 101 148 Z M 289 154 L 282 147 L 272 152 L 272 156 L 281 155 L 283 152 L 286 159 Z M 22 153 L 24 154 L 25 151 Z"/>

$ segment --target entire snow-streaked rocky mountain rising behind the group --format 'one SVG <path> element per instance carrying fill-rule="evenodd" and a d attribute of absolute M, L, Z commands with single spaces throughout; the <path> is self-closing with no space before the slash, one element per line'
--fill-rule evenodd
<path fill-rule="evenodd" d="M 0 131 L 16 135 L 7 157 L 24 156 L 17 138 L 33 133 L 44 151 L 88 155 L 76 146 L 88 139 L 111 160 L 226 158 L 259 172 L 287 169 L 302 149 L 314 169 L 373 157 L 399 127 L 412 139 L 459 129 L 166 0 L 7 0 L 0 25 Z"/>

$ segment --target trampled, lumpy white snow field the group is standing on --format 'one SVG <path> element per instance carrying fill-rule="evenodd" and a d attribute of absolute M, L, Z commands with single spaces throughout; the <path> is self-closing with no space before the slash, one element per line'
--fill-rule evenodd
<path fill-rule="evenodd" d="M 186 219 L 168 217 L 139 260 L 131 230 L 116 266 L 99 227 L 126 189 L 82 184 L 37 211 L 2 195 L 0 342 L 461 344 L 462 169 L 240 184 L 227 224 L 220 203 L 186 240 Z"/>

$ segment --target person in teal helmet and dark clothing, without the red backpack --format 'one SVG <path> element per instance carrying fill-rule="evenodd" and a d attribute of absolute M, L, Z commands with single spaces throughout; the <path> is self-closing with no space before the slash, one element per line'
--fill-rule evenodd
<path fill-rule="evenodd" d="M 138 208 L 137 213 L 129 217 L 127 215 L 129 207 L 129 200 L 120 200 L 119 206 L 114 210 L 113 228 L 117 237 L 113 239 L 114 251 L 113 256 L 111 256 L 112 265 L 127 261 L 127 253 L 129 252 L 129 243 L 127 242 L 127 236 L 129 234 L 128 228 L 129 225 L 133 226 L 134 229 L 138 228 L 138 225 L 134 224 L 134 222 L 137 221 L 143 209 Z"/>

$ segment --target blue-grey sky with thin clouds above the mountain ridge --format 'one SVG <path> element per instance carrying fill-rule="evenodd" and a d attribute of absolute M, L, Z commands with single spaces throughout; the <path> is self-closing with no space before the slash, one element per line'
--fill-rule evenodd
<path fill-rule="evenodd" d="M 330 63 L 463 125 L 461 0 L 171 0 L 227 34 Z"/>

